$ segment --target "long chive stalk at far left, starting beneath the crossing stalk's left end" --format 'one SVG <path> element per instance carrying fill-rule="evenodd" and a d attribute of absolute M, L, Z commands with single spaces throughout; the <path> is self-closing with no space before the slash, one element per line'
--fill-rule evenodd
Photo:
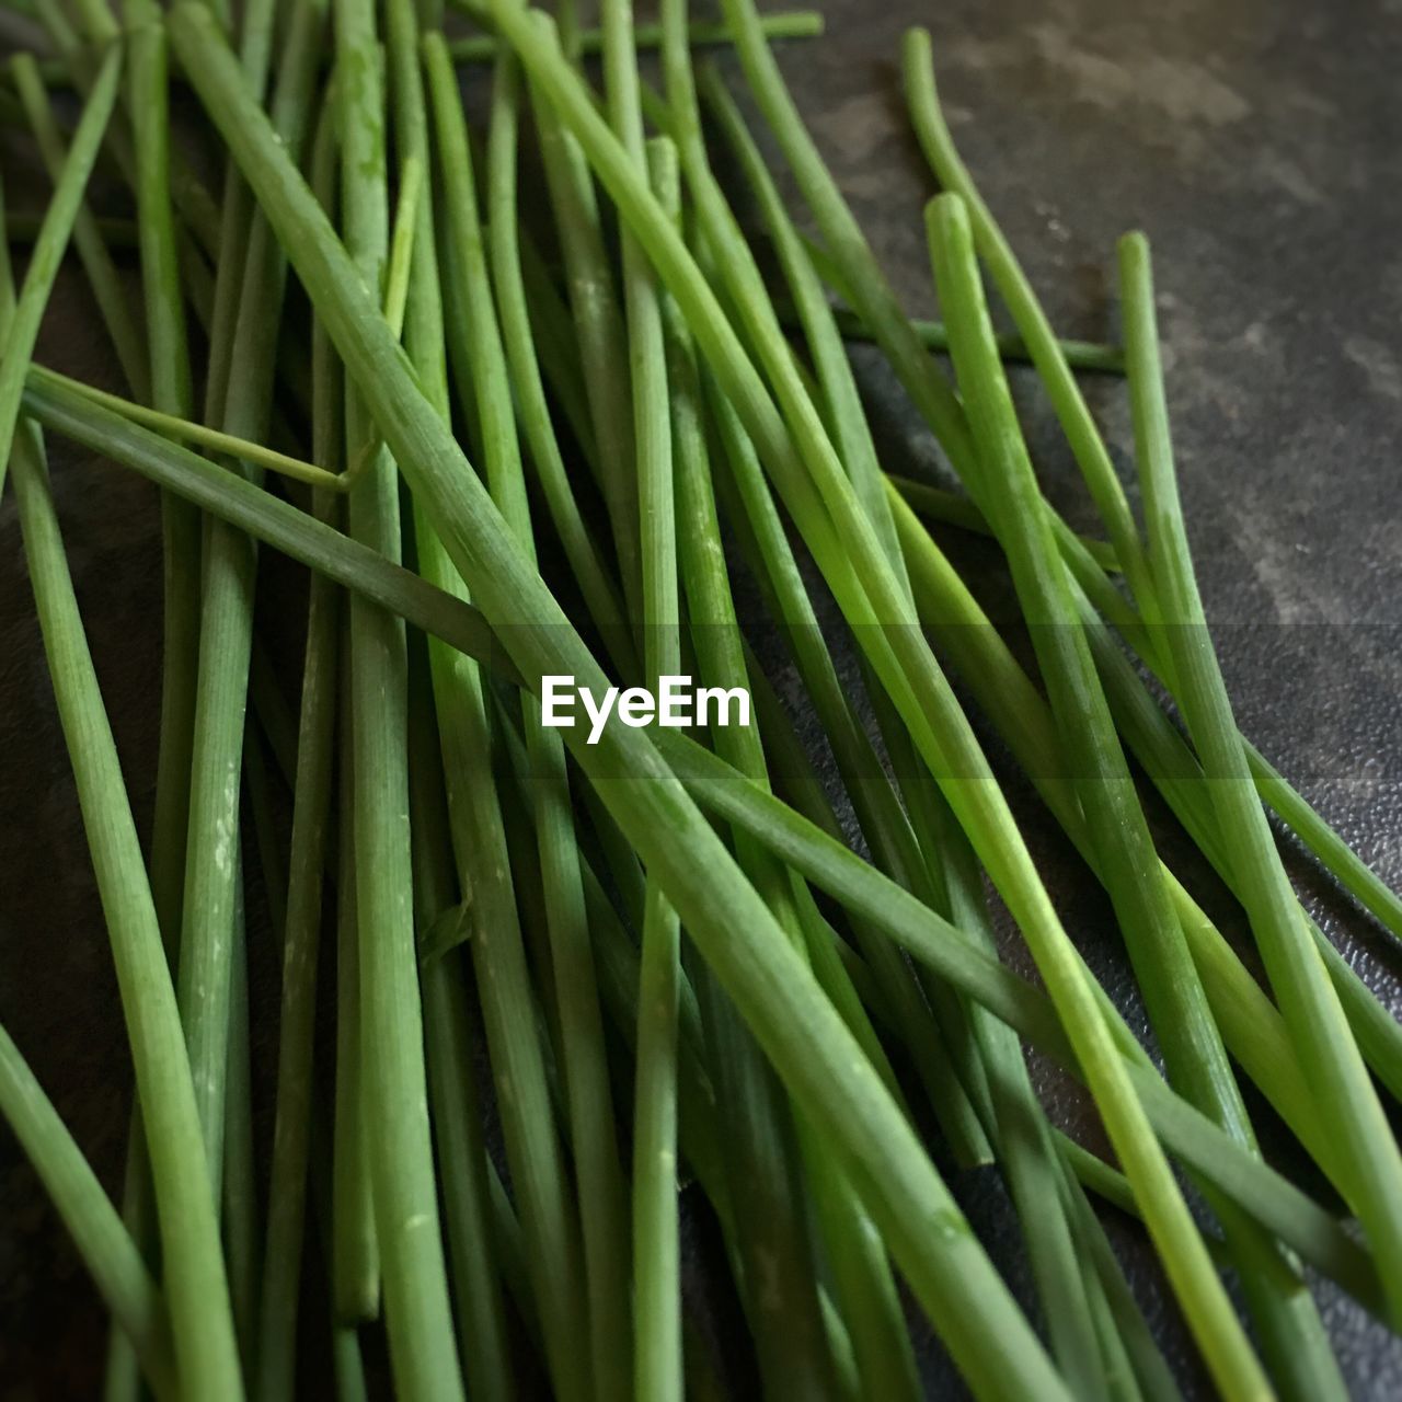
<path fill-rule="evenodd" d="M 36 435 L 25 433 L 14 454 L 20 523 L 126 1011 L 181 1389 L 234 1399 L 238 1350 L 175 991 L 48 474 Z"/>

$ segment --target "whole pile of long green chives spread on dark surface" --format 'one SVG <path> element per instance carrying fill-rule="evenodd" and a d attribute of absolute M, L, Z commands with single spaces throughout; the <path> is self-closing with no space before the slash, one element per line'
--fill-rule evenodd
<path fill-rule="evenodd" d="M 122 111 L 105 0 L 72 20 L 35 3 L 59 57 L 21 56 L 14 80 L 55 195 L 36 236 L 7 222 L 35 251 L 3 307 L 0 426 L 142 1094 L 126 1223 L 3 1033 L 0 1112 L 112 1312 L 114 1399 L 143 1374 L 160 1396 L 245 1382 L 290 1396 L 328 1347 L 341 1395 L 362 1396 L 360 1338 L 381 1316 L 404 1396 L 509 1398 L 541 1378 L 579 1402 L 711 1395 L 687 1183 L 714 1211 L 711 1288 L 733 1294 L 764 1395 L 920 1396 L 899 1273 L 981 1396 L 1175 1396 L 1091 1195 L 1148 1228 L 1227 1395 L 1342 1395 L 1302 1267 L 1380 1318 L 1399 1308 L 1382 1096 L 1402 1089 L 1402 1030 L 1286 885 L 1263 802 L 1394 930 L 1402 900 L 1232 719 L 1173 484 L 1145 245 L 1122 248 L 1141 538 L 1074 376 L 1119 370 L 1120 353 L 1054 335 L 953 150 L 928 39 L 907 36 L 904 73 L 951 191 L 930 210 L 938 324 L 900 310 L 768 50 L 816 17 L 723 4 L 721 25 L 684 0 L 637 25 L 608 0 L 593 31 L 569 3 L 552 22 L 520 0 L 464 0 L 489 34 L 457 39 L 433 0 L 383 18 L 370 0 L 168 15 L 126 0 Z M 222 209 L 172 142 L 167 38 L 224 142 Z M 820 241 L 805 240 L 708 70 L 700 95 L 758 202 L 780 289 L 707 150 L 691 50 L 712 42 L 736 46 L 816 219 Z M 662 97 L 639 79 L 646 46 L 662 49 Z M 596 50 L 599 93 L 580 66 Z M 454 67 L 478 57 L 494 59 L 481 189 Z M 87 95 L 67 140 L 42 81 Z M 523 227 L 526 93 L 555 250 Z M 149 352 L 104 243 L 121 229 L 84 203 L 104 136 L 137 198 Z M 70 233 L 130 400 L 31 365 Z M 980 258 L 1016 336 L 991 331 Z M 285 296 L 289 271 L 306 299 Z M 209 339 L 203 422 L 188 311 Z M 897 464 L 878 456 L 851 335 L 890 360 L 967 496 L 883 471 Z M 930 349 L 952 353 L 958 390 Z M 1014 358 L 1046 384 L 1109 543 L 1047 509 Z M 38 423 L 163 492 L 149 879 Z M 913 506 L 1002 548 L 1046 700 Z M 296 704 L 258 638 L 254 541 L 313 572 Z M 541 578 L 557 564 L 558 596 Z M 765 625 L 792 672 L 765 676 L 746 637 Z M 1053 910 L 931 641 L 1105 886 L 1166 1082 Z M 1179 704 L 1186 739 L 1120 641 Z M 537 711 L 562 676 L 587 698 L 613 681 L 662 694 L 687 670 L 746 695 L 749 723 L 683 735 L 615 714 L 559 735 Z M 1159 859 L 1127 754 L 1242 901 L 1270 991 Z M 290 791 L 286 837 L 266 756 Z M 247 984 L 245 789 L 250 886 L 282 941 L 271 1001 Z M 1001 960 L 986 878 L 1047 993 Z M 265 1195 L 251 1047 L 273 1007 Z M 1123 1172 L 1052 1127 L 1029 1049 L 1089 1091 Z M 1361 1239 L 1260 1158 L 1228 1054 Z M 1004 1175 L 1035 1318 L 937 1161 Z M 304 1249 L 308 1207 L 320 1253 Z M 322 1273 L 329 1336 L 297 1308 Z"/>

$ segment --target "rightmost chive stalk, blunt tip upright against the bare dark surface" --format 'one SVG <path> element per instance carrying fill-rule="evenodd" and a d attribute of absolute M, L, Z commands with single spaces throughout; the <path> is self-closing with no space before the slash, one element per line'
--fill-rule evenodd
<path fill-rule="evenodd" d="M 1329 972 L 1304 925 L 1232 719 L 1183 529 L 1158 363 L 1148 243 L 1120 243 L 1134 446 L 1144 492 L 1162 648 L 1221 829 L 1239 896 L 1281 1015 L 1329 1136 L 1349 1161 L 1354 1207 L 1377 1252 L 1394 1321 L 1402 1319 L 1402 1155 Z M 1152 631 L 1152 628 L 1151 628 Z"/>

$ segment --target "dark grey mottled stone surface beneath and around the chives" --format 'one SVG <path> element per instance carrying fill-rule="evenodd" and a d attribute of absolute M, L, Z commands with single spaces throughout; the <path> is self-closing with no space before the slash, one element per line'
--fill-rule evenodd
<path fill-rule="evenodd" d="M 965 156 L 1064 334 L 1115 334 L 1113 241 L 1131 226 L 1154 238 L 1183 498 L 1242 726 L 1398 885 L 1396 6 L 834 0 L 824 8 L 827 38 L 789 46 L 785 72 L 911 311 L 934 310 L 920 223 L 932 184 L 899 94 L 900 34 L 911 22 L 934 31 Z M 735 74 L 730 60 L 722 64 Z M 11 186 L 22 181 L 20 151 L 13 139 L 0 146 Z M 60 285 L 41 349 L 70 373 L 111 376 L 76 275 Z M 883 367 L 868 353 L 858 363 L 887 464 L 932 464 Z M 1091 526 L 1026 376 L 1019 394 L 1049 494 Z M 1130 479 L 1123 388 L 1092 381 L 1091 394 Z M 72 449 L 56 446 L 53 460 L 80 603 L 144 826 L 160 649 L 156 499 Z M 995 554 L 953 537 L 951 545 L 980 589 L 1005 601 Z M 1138 1018 L 1099 892 L 1035 806 L 1021 808 L 1070 928 Z M 125 1036 L 8 494 L 0 503 L 0 1019 L 115 1193 Z M 1172 852 L 1171 834 L 1166 841 Z M 1307 864 L 1295 861 L 1294 871 L 1349 959 L 1389 1005 L 1402 1002 L 1395 946 L 1312 880 Z M 1230 901 L 1211 883 L 1202 893 L 1239 934 Z M 1047 1094 L 1060 1116 L 1077 1119 L 1050 1078 Z M 1269 1144 L 1269 1119 L 1263 1129 Z M 1019 1286 L 1001 1187 L 987 1173 L 956 1187 Z M 1115 1232 L 1185 1388 L 1206 1395 L 1140 1234 L 1117 1223 Z M 1402 1394 L 1402 1346 L 1332 1293 L 1321 1302 L 1354 1395 Z M 0 1395 L 94 1395 L 102 1339 L 81 1266 L 13 1140 L 0 1136 Z M 924 1353 L 932 1391 L 945 1395 L 938 1350 Z"/>

